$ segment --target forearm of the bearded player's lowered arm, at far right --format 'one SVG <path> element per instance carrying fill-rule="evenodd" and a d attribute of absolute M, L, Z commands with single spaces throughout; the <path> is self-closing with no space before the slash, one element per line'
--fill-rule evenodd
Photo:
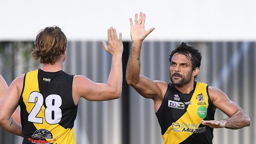
<path fill-rule="evenodd" d="M 223 121 L 225 123 L 225 128 L 228 129 L 241 129 L 250 126 L 249 116 L 242 111 L 237 111 L 233 116 Z"/>

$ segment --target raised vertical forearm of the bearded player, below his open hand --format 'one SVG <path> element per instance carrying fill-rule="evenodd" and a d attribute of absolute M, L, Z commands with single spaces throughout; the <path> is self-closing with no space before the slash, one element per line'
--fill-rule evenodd
<path fill-rule="evenodd" d="M 141 44 L 142 42 L 132 43 L 132 49 L 126 68 L 126 81 L 129 85 L 135 85 L 139 81 Z"/>

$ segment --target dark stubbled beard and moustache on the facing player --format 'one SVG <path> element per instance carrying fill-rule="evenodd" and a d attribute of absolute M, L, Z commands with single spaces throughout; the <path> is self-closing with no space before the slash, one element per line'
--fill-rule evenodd
<path fill-rule="evenodd" d="M 180 76 L 180 79 L 174 79 L 174 76 Z M 183 86 L 186 85 L 187 83 L 189 83 L 192 79 L 192 72 L 190 72 L 189 74 L 187 74 L 186 76 L 183 76 L 181 74 L 179 74 L 178 72 L 174 72 L 172 75 L 170 74 L 170 79 L 171 82 L 176 85 L 176 86 Z"/>

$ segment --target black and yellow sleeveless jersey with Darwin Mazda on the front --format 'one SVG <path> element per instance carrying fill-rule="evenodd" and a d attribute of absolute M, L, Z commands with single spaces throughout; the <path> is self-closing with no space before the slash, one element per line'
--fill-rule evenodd
<path fill-rule="evenodd" d="M 194 89 L 183 94 L 172 83 L 156 112 L 163 144 L 212 144 L 213 128 L 201 120 L 214 120 L 215 111 L 208 85 L 194 81 Z"/>

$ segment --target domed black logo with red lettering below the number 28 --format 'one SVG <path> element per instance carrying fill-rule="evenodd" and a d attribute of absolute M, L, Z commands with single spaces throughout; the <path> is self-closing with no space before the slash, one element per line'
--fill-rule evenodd
<path fill-rule="evenodd" d="M 29 137 L 28 140 L 34 144 L 52 144 L 56 139 L 53 140 L 46 140 L 52 139 L 53 135 L 47 129 L 39 129 L 33 133 L 32 138 Z"/>

